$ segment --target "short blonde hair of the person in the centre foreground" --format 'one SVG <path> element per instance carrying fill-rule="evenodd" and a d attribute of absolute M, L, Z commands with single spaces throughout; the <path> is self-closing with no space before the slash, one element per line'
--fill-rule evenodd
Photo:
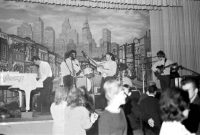
<path fill-rule="evenodd" d="M 105 91 L 105 97 L 108 101 L 113 99 L 121 91 L 120 82 L 116 79 L 109 79 L 103 85 Z"/>

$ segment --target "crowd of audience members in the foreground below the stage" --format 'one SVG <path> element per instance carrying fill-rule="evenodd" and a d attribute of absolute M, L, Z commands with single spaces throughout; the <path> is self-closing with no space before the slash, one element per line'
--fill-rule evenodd
<path fill-rule="evenodd" d="M 182 88 L 167 88 L 158 96 L 155 84 L 141 94 L 110 78 L 103 85 L 107 105 L 98 113 L 84 87 L 60 87 L 50 109 L 53 134 L 86 135 L 95 121 L 98 135 L 198 134 L 200 100 L 197 86 L 194 79 L 186 78 Z"/>

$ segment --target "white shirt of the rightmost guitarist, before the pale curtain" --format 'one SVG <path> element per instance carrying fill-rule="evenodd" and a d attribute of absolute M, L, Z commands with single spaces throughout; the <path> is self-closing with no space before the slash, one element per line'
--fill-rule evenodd
<path fill-rule="evenodd" d="M 157 66 L 161 66 L 161 65 L 164 65 L 164 67 L 172 64 L 173 62 L 171 60 L 166 60 L 165 62 L 165 59 L 161 60 L 161 61 L 157 61 L 153 66 L 152 66 L 152 70 L 153 72 L 156 72 L 156 71 L 159 71 L 158 68 L 156 68 Z M 163 70 L 163 73 L 161 73 L 161 75 L 170 75 L 170 67 L 166 67 L 164 70 Z"/>

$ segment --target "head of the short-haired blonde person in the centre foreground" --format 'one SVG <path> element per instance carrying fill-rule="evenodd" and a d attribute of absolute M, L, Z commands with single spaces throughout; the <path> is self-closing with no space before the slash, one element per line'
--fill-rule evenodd
<path fill-rule="evenodd" d="M 105 97 L 110 103 L 116 103 L 119 106 L 125 104 L 128 92 L 123 90 L 120 82 L 116 79 L 109 79 L 103 85 Z"/>

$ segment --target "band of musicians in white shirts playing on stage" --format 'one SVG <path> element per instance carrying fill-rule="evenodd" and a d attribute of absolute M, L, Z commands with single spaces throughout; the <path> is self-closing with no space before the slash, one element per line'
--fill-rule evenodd
<path fill-rule="evenodd" d="M 84 86 L 88 92 L 93 94 L 100 93 L 102 96 L 104 94 L 103 84 L 109 79 L 114 78 L 120 81 L 122 85 L 134 87 L 133 75 L 127 63 L 120 63 L 113 53 L 107 52 L 105 59 L 101 61 L 89 57 L 84 51 L 82 51 L 82 55 L 85 63 L 81 63 L 77 59 L 75 50 L 65 53 L 64 59 L 60 64 L 60 87 L 71 89 L 74 86 Z M 152 63 L 151 70 L 160 82 L 161 91 L 168 87 L 177 86 L 175 80 L 180 77 L 178 70 L 183 67 L 168 59 L 164 51 L 158 51 L 156 58 L 158 60 Z M 40 60 L 38 56 L 32 57 L 32 62 L 38 68 L 38 81 L 43 83 L 43 88 L 38 88 L 31 92 L 30 110 L 34 108 L 34 104 L 37 104 L 38 110 L 49 111 L 53 91 L 52 69 L 48 62 Z M 38 93 L 40 93 L 40 98 L 35 101 L 37 103 L 33 103 L 33 97 Z"/>

